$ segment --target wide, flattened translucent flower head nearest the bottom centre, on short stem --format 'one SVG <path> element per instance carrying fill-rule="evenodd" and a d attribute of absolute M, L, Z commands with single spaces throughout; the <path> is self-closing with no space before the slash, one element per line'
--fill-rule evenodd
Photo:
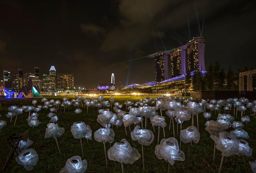
<path fill-rule="evenodd" d="M 113 161 L 133 164 L 140 158 L 140 153 L 126 139 L 115 142 L 107 151 L 108 158 Z"/>

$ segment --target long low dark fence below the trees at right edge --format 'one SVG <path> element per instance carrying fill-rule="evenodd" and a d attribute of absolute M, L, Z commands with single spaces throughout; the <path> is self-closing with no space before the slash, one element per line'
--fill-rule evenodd
<path fill-rule="evenodd" d="M 203 99 L 227 99 L 245 97 L 249 100 L 256 100 L 256 91 L 201 91 Z"/>

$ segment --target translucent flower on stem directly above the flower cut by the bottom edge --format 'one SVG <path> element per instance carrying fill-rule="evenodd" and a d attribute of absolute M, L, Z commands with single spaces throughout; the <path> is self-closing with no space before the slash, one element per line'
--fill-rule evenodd
<path fill-rule="evenodd" d="M 89 125 L 86 125 L 84 122 L 73 123 L 73 126 L 71 126 L 70 130 L 74 138 L 86 138 L 91 140 L 91 127 Z"/>

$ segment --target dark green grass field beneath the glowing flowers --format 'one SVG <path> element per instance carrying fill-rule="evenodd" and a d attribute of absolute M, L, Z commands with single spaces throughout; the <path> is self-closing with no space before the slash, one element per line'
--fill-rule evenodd
<path fill-rule="evenodd" d="M 145 96 L 143 96 L 145 97 Z M 152 96 L 151 96 L 152 97 Z M 60 97 L 48 97 L 47 99 L 50 100 L 53 98 L 54 100 L 62 101 Z M 70 97 L 69 100 L 71 100 Z M 115 102 L 124 103 L 126 100 L 139 100 L 142 96 L 114 96 Z M 16 105 L 18 107 L 22 107 L 23 105 L 32 105 L 32 100 L 34 99 L 21 99 L 21 100 L 0 100 L 1 107 L 0 107 L 0 120 L 5 120 L 7 125 L 1 129 L 0 133 L 0 167 L 2 168 L 5 164 L 6 156 L 9 153 L 10 146 L 6 140 L 6 138 L 13 134 L 13 133 L 22 133 L 28 130 L 29 139 L 33 141 L 33 144 L 30 148 L 33 148 L 37 154 L 39 154 L 39 161 L 37 165 L 34 166 L 33 170 L 30 172 L 52 172 L 52 173 L 59 173 L 60 169 L 64 167 L 66 160 L 71 156 L 79 155 L 81 156 L 81 148 L 80 148 L 80 141 L 79 139 L 75 139 L 70 131 L 72 124 L 76 121 L 83 121 L 89 126 L 91 126 L 92 133 L 100 128 L 100 124 L 97 122 L 97 107 L 89 107 L 88 113 L 86 113 L 86 107 L 80 108 L 82 112 L 80 114 L 75 114 L 75 108 L 73 106 L 70 107 L 69 112 L 65 113 L 65 117 L 68 122 L 62 120 L 58 122 L 60 127 L 65 128 L 65 133 L 58 137 L 60 152 L 59 154 L 55 140 L 53 138 L 46 138 L 44 139 L 44 133 L 46 129 L 46 125 L 49 123 L 49 118 L 47 114 L 50 112 L 49 109 L 42 109 L 38 114 L 38 119 L 41 124 L 39 126 L 30 128 L 26 119 L 28 117 L 28 112 L 23 112 L 23 114 L 19 115 L 17 118 L 17 122 L 14 126 L 14 121 L 10 123 L 10 118 L 7 118 L 5 114 L 8 112 L 8 107 L 11 105 Z M 41 99 L 36 99 L 37 105 L 44 105 L 41 102 Z M 106 96 L 104 100 L 109 100 L 109 97 Z M 150 104 L 149 104 L 150 105 Z M 153 105 L 150 105 L 153 106 Z M 122 110 L 125 110 L 125 105 L 123 104 Z M 113 110 L 112 110 L 113 111 Z M 222 113 L 223 113 L 222 109 Z M 158 111 L 160 114 L 160 111 Z M 240 112 L 239 112 L 240 113 Z M 245 115 L 249 115 L 250 111 L 247 110 Z M 171 130 L 169 131 L 169 123 L 170 118 L 166 116 L 164 113 L 163 116 L 166 117 L 167 126 L 165 127 L 165 138 L 173 137 L 172 133 L 172 126 Z M 232 113 L 233 116 L 233 113 Z M 241 115 L 238 114 L 235 121 L 241 121 Z M 217 115 L 212 114 L 212 117 L 209 120 L 216 120 Z M 15 119 L 14 119 L 15 120 Z M 196 118 L 195 118 L 196 122 Z M 200 140 L 197 144 L 192 144 L 191 146 L 191 153 L 190 153 L 190 163 L 187 161 L 188 156 L 188 144 L 182 143 L 181 150 L 185 153 L 185 161 L 176 161 L 173 166 L 170 166 L 171 172 L 218 172 L 219 164 L 221 160 L 221 153 L 216 149 L 215 154 L 215 162 L 213 162 L 213 146 L 214 141 L 210 138 L 210 134 L 205 130 L 205 122 L 206 119 L 203 117 L 203 114 L 199 115 L 199 132 L 200 132 Z M 145 125 L 145 121 L 144 121 Z M 144 126 L 143 125 L 143 126 Z M 179 136 L 177 136 L 177 127 L 174 124 L 175 128 L 175 137 L 179 142 Z M 191 125 L 191 120 L 184 122 L 182 124 L 182 128 L 187 128 Z M 244 124 L 244 130 L 248 132 L 249 139 L 246 141 L 249 143 L 249 146 L 253 150 L 253 154 L 251 157 L 245 156 L 230 156 L 225 157 L 222 167 L 222 172 L 252 172 L 251 167 L 249 165 L 249 161 L 253 162 L 256 159 L 255 156 L 255 149 L 256 149 L 256 134 L 255 134 L 255 125 L 256 119 L 251 117 L 251 122 L 248 124 Z M 197 126 L 195 124 L 195 126 Z M 131 130 L 133 130 L 133 125 L 131 126 Z M 159 160 L 156 155 L 154 154 L 155 146 L 157 145 L 157 128 L 154 132 L 153 127 L 150 124 L 150 121 L 147 121 L 147 128 L 150 129 L 155 136 L 154 141 L 149 146 L 144 146 L 144 158 L 145 158 L 145 172 L 167 172 L 167 162 L 164 160 Z M 227 131 L 230 132 L 233 128 L 229 128 Z M 127 128 L 127 132 L 129 129 Z M 129 143 L 132 145 L 131 136 L 125 135 L 124 126 L 121 128 L 116 128 L 114 126 L 115 138 L 114 142 L 118 142 L 122 139 L 127 139 Z M 160 132 L 160 140 L 163 139 L 163 131 Z M 109 168 L 106 170 L 105 168 L 105 156 L 104 156 L 104 146 L 103 143 L 97 142 L 93 135 L 92 140 L 82 139 L 83 142 L 83 149 L 84 149 L 84 158 L 87 160 L 88 167 L 86 172 L 121 172 L 121 164 L 118 162 L 113 162 L 108 159 Z M 113 145 L 113 143 L 112 143 Z M 109 143 L 106 144 L 107 149 L 109 149 Z M 134 146 L 139 153 L 142 152 L 141 145 L 138 144 L 137 141 L 134 141 Z M 134 162 L 132 165 L 125 164 L 124 165 L 125 172 L 143 172 L 142 169 L 142 158 Z M 22 165 L 19 165 L 15 158 L 13 158 L 10 163 L 8 164 L 7 169 L 5 172 L 8 173 L 19 173 L 19 172 L 26 172 Z"/>

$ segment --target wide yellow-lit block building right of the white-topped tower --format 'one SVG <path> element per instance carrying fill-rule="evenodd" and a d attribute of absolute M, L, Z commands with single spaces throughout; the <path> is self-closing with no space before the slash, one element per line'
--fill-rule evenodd
<path fill-rule="evenodd" d="M 58 73 L 57 75 L 57 88 L 72 88 L 74 87 L 73 74 Z"/>

